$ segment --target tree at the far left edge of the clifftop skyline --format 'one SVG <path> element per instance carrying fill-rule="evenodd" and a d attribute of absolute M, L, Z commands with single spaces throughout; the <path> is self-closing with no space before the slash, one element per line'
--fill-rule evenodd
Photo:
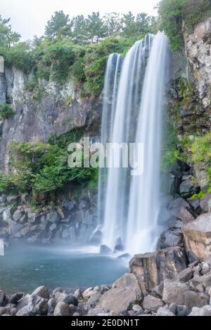
<path fill-rule="evenodd" d="M 10 18 L 4 19 L 0 15 L 0 47 L 10 48 L 20 40 L 20 34 L 11 29 Z"/>

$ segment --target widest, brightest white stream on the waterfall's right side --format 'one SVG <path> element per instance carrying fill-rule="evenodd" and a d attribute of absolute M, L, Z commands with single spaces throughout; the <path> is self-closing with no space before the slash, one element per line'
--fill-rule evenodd
<path fill-rule="evenodd" d="M 162 107 L 167 82 L 169 46 L 164 33 L 153 40 L 143 82 L 136 146 L 143 144 L 143 174 L 132 177 L 129 192 L 126 250 L 129 253 L 151 252 L 160 230 L 160 145 Z"/>

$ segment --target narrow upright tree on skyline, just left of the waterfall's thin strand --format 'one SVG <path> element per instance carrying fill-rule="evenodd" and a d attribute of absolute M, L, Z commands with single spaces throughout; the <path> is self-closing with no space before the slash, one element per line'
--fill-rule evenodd
<path fill-rule="evenodd" d="M 93 12 L 88 15 L 87 18 L 87 36 L 91 43 L 98 42 L 99 39 L 105 37 L 106 29 L 104 27 L 103 20 L 100 17 L 100 13 Z"/>

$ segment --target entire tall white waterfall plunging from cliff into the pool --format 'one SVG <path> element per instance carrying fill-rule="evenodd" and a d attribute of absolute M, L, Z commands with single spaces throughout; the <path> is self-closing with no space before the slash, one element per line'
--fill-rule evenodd
<path fill-rule="evenodd" d="M 106 73 L 102 141 L 122 144 L 120 160 L 125 144 L 142 143 L 144 150 L 143 174 L 138 177 L 132 177 L 131 169 L 124 164 L 115 168 L 113 151 L 108 154 L 110 166 L 99 208 L 103 219 L 102 243 L 112 250 L 124 246 L 129 253 L 150 251 L 158 232 L 160 127 L 168 49 L 167 37 L 162 32 L 156 36 L 148 34 L 136 42 L 124 58 L 116 97 L 109 106 Z M 109 58 L 108 65 L 110 61 Z"/>

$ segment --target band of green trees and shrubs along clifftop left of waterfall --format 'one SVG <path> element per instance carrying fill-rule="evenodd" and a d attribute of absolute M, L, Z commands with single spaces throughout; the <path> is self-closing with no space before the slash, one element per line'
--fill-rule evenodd
<path fill-rule="evenodd" d="M 0 17 L 0 55 L 8 65 L 26 74 L 33 72 L 25 88 L 34 93 L 34 99 L 40 99 L 40 79 L 64 84 L 72 77 L 77 84 L 84 84 L 85 94 L 101 94 L 110 53 L 125 53 L 137 39 L 153 32 L 155 18 L 131 12 L 104 17 L 96 12 L 70 18 L 56 11 L 44 36 L 34 37 L 32 42 L 19 42 L 19 34 L 12 32 L 8 23 Z"/>

